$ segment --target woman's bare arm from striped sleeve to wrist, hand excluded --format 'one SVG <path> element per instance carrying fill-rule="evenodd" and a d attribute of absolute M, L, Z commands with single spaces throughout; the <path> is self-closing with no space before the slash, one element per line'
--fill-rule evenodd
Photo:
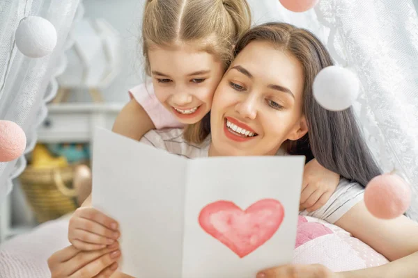
<path fill-rule="evenodd" d="M 359 202 L 336 223 L 391 263 L 376 268 L 341 272 L 341 277 L 418 277 L 418 223 L 404 215 L 393 220 L 373 217 L 364 202 Z"/>

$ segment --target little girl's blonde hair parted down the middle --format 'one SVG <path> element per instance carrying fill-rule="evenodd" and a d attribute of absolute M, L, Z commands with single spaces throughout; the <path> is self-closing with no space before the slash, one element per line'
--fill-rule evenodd
<path fill-rule="evenodd" d="M 250 26 L 247 0 L 148 0 L 142 24 L 146 74 L 150 75 L 148 51 L 153 46 L 180 43 L 196 43 L 222 61 L 226 70 L 235 42 Z M 185 128 L 184 137 L 189 142 L 201 142 L 205 133 L 200 124 L 191 124 Z"/>

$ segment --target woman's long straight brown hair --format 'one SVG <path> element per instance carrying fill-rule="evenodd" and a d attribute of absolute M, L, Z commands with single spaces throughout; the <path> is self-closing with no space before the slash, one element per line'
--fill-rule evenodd
<path fill-rule="evenodd" d="M 380 168 L 366 146 L 351 108 L 345 111 L 327 111 L 312 94 L 316 74 L 333 65 L 325 46 L 307 30 L 286 23 L 267 23 L 251 28 L 236 44 L 235 56 L 252 41 L 270 42 L 279 51 L 293 55 L 303 67 L 304 103 L 302 111 L 307 118 L 308 133 L 297 141 L 286 142 L 290 154 L 303 154 L 307 160 L 317 161 L 342 177 L 363 186 L 378 174 Z M 221 92 L 222 93 L 222 92 Z M 201 135 L 209 135 L 208 120 L 201 122 Z"/>

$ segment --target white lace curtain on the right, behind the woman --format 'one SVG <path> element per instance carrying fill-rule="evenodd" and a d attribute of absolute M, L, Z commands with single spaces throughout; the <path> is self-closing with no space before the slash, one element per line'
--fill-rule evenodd
<path fill-rule="evenodd" d="M 320 0 L 327 47 L 362 83 L 359 120 L 385 172 L 412 187 L 408 216 L 418 220 L 418 17 L 412 0 Z"/>

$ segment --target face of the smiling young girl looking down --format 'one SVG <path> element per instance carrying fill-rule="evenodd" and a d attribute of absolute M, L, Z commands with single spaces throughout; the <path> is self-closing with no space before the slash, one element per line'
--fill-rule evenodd
<path fill-rule="evenodd" d="M 199 122 L 212 106 L 213 94 L 224 74 L 222 62 L 189 44 L 153 47 L 148 58 L 157 99 L 179 122 Z"/>

